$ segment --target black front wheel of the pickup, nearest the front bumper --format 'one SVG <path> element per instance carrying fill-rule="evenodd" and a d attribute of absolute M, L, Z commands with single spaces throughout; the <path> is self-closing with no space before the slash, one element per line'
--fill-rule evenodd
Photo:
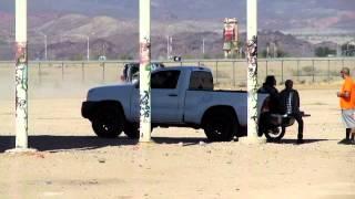
<path fill-rule="evenodd" d="M 99 137 L 115 138 L 123 130 L 123 113 L 118 107 L 104 105 L 98 108 L 91 125 Z"/>

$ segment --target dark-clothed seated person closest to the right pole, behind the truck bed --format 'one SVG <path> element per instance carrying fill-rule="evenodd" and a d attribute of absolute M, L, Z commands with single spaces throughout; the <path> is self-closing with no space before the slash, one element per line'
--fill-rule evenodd
<path fill-rule="evenodd" d="M 268 128 L 267 121 L 271 114 L 277 112 L 278 91 L 276 86 L 276 78 L 274 75 L 267 75 L 263 86 L 257 90 L 257 93 L 268 94 L 268 112 L 262 113 L 258 122 L 258 136 L 262 136 L 265 129 Z"/>

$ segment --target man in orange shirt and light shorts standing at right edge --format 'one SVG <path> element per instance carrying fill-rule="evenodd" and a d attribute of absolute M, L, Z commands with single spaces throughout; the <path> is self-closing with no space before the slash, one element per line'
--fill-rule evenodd
<path fill-rule="evenodd" d="M 342 118 L 344 126 L 346 128 L 345 139 L 339 142 L 341 144 L 349 144 L 351 143 L 351 133 L 352 129 L 355 128 L 355 117 L 354 117 L 354 108 L 355 108 L 355 91 L 354 91 L 354 82 L 349 75 L 349 69 L 343 67 L 341 71 L 341 75 L 344 78 L 341 91 L 337 92 L 337 97 L 339 97 L 339 105 L 342 109 Z"/>

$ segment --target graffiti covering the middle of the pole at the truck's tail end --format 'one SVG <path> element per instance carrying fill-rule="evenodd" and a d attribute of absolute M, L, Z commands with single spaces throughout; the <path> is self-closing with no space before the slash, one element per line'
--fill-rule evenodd
<path fill-rule="evenodd" d="M 252 95 L 252 108 L 257 108 L 257 36 L 253 36 L 252 40 L 247 41 L 247 75 L 252 80 L 252 87 L 248 88 L 248 93 Z M 257 112 L 251 116 L 253 121 L 257 121 Z"/>

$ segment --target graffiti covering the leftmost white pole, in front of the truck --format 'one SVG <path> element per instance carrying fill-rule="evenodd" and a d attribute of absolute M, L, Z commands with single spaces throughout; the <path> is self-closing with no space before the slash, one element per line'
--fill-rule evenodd
<path fill-rule="evenodd" d="M 27 43 L 18 42 L 16 45 L 16 117 L 24 121 L 24 130 L 28 129 L 28 69 L 27 69 Z"/>

